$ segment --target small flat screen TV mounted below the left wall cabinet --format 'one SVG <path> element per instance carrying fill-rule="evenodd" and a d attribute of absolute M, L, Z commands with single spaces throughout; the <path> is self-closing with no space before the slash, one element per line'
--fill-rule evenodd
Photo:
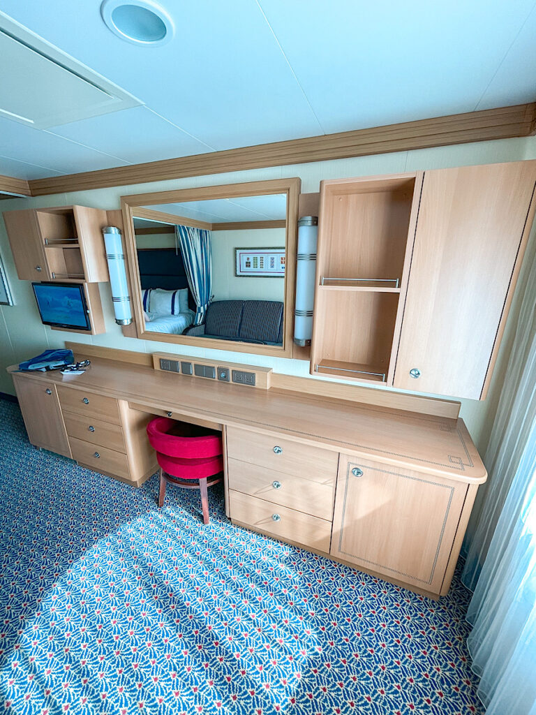
<path fill-rule="evenodd" d="M 84 286 L 79 283 L 32 283 L 44 325 L 91 330 Z"/>

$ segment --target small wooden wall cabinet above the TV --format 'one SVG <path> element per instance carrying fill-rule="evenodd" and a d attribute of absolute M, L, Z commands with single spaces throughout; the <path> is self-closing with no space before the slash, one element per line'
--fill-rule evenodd
<path fill-rule="evenodd" d="M 4 212 L 21 280 L 109 280 L 104 239 L 106 211 L 62 206 Z"/>

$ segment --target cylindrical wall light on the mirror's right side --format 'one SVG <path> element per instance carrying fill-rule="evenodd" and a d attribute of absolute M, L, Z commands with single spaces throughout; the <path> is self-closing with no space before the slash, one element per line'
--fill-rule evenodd
<path fill-rule="evenodd" d="M 294 342 L 311 345 L 314 280 L 317 272 L 318 217 L 303 216 L 298 221 L 296 264 L 296 307 L 294 308 Z"/>

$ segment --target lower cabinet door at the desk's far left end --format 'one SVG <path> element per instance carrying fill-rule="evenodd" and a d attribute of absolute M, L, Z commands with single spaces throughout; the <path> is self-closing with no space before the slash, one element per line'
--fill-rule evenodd
<path fill-rule="evenodd" d="M 36 447 L 71 457 L 54 383 L 12 375 L 28 438 Z"/>

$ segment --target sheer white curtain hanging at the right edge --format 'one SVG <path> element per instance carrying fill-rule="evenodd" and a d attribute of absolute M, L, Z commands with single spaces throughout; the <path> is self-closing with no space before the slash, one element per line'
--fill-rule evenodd
<path fill-rule="evenodd" d="M 536 262 L 485 463 L 489 487 L 462 581 L 487 715 L 536 715 Z"/>

